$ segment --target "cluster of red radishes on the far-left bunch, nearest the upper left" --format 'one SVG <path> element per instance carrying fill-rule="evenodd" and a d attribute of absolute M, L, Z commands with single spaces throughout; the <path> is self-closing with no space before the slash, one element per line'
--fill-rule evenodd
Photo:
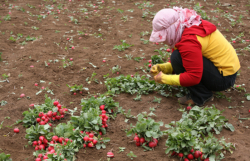
<path fill-rule="evenodd" d="M 40 112 L 38 114 L 38 118 L 36 118 L 36 121 L 40 124 L 40 125 L 45 125 L 46 123 L 48 123 L 50 120 L 52 121 L 56 121 L 56 120 L 60 120 L 62 118 L 64 118 L 64 114 L 65 111 L 68 111 L 67 108 L 61 108 L 62 105 L 58 102 L 58 101 L 54 101 L 54 106 L 57 107 L 58 112 L 52 112 L 52 111 L 48 111 L 47 113 L 43 113 Z M 60 115 L 59 115 L 60 114 Z M 49 125 L 51 126 L 52 124 L 49 123 Z"/>

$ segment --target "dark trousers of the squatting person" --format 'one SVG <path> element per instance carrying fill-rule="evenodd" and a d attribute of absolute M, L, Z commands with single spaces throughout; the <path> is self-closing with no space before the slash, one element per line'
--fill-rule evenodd
<path fill-rule="evenodd" d="M 186 71 L 178 50 L 172 53 L 170 60 L 176 74 Z M 203 57 L 203 74 L 201 81 L 197 85 L 187 87 L 187 89 L 194 103 L 203 106 L 207 100 L 213 97 L 212 91 L 223 91 L 233 86 L 236 76 L 237 72 L 230 76 L 223 76 L 209 59 Z"/>

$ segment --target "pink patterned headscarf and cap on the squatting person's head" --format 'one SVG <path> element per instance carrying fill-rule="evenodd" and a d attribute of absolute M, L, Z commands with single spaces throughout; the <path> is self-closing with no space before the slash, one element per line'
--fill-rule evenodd
<path fill-rule="evenodd" d="M 154 17 L 153 31 L 149 41 L 164 42 L 171 48 L 181 40 L 185 27 L 199 26 L 201 16 L 194 10 L 174 7 L 173 9 L 162 9 Z"/>

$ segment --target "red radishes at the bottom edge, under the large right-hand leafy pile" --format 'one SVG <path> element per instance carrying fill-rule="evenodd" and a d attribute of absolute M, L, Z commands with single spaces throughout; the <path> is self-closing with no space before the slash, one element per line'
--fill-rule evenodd
<path fill-rule="evenodd" d="M 184 154 L 183 154 L 183 153 L 176 153 L 176 152 L 173 152 L 173 153 L 172 153 L 172 156 L 178 156 L 178 157 L 180 157 L 180 158 L 183 158 Z M 198 159 L 198 158 L 200 158 L 200 160 L 202 160 L 202 161 L 209 161 L 209 158 L 206 158 L 206 159 L 205 159 L 205 158 L 203 157 L 203 154 L 202 154 L 201 151 L 195 151 L 195 152 L 194 152 L 194 149 L 190 150 L 190 154 L 188 154 L 188 155 L 186 156 L 186 158 L 184 158 L 184 161 L 196 160 L 196 159 Z"/>

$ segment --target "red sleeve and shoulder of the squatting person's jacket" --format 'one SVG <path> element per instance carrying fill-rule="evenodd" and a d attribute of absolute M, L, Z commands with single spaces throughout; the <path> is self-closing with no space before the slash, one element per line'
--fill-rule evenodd
<path fill-rule="evenodd" d="M 199 84 L 203 73 L 202 46 L 196 35 L 205 37 L 216 30 L 216 26 L 208 21 L 202 20 L 199 26 L 185 28 L 181 41 L 175 44 L 179 50 L 183 67 L 186 72 L 180 74 L 181 86 L 194 86 Z"/>

